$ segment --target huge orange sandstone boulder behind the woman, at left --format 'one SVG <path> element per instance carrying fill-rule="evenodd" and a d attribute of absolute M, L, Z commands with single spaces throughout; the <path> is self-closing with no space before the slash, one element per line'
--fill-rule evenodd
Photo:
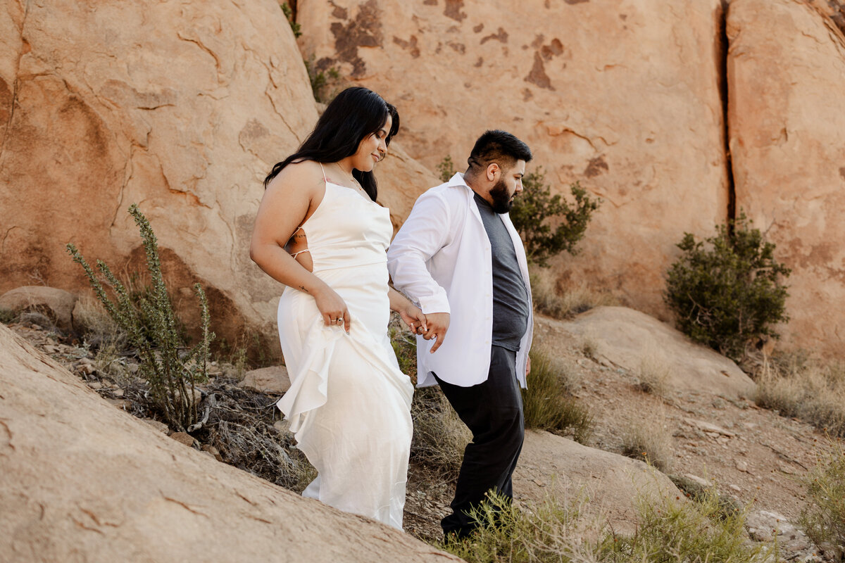
<path fill-rule="evenodd" d="M 136 202 L 177 306 L 196 311 L 189 288 L 200 281 L 219 337 L 239 344 L 258 328 L 278 349 L 282 288 L 250 262 L 248 244 L 264 174 L 316 117 L 273 0 L 3 3 L 0 292 L 34 271 L 87 287 L 64 251 L 70 241 L 118 273 L 143 269 L 126 213 Z M 379 179 L 398 218 L 433 179 L 396 152 Z"/>

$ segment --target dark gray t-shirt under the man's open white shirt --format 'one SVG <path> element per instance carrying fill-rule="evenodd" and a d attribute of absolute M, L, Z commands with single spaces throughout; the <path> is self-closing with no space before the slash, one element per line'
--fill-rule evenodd
<path fill-rule="evenodd" d="M 514 241 L 487 201 L 475 194 L 478 213 L 490 239 L 493 257 L 493 339 L 492 344 L 509 350 L 520 349 L 522 335 L 528 328 L 531 303 L 516 261 Z"/>

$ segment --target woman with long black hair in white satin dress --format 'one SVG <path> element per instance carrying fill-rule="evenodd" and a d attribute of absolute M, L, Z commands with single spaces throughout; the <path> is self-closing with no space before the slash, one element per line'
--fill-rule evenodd
<path fill-rule="evenodd" d="M 337 95 L 264 181 L 250 257 L 287 286 L 278 323 L 291 388 L 278 407 L 318 470 L 303 495 L 401 529 L 413 387 L 387 323 L 398 311 L 422 332 L 425 316 L 388 285 L 393 226 L 375 203 L 373 167 L 398 128 L 374 92 Z"/>

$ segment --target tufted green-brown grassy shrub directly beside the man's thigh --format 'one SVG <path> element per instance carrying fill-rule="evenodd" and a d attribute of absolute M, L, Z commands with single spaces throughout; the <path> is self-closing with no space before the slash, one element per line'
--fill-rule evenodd
<path fill-rule="evenodd" d="M 572 436 L 583 444 L 590 436 L 593 417 L 586 406 L 570 396 L 571 376 L 546 351 L 534 348 L 529 354 L 531 373 L 528 388 L 522 390 L 526 428 Z"/>

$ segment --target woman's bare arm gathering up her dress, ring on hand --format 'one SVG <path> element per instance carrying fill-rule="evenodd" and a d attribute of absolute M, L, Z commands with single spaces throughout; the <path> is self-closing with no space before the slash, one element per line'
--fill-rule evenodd
<path fill-rule="evenodd" d="M 309 164 L 312 163 L 289 165 L 270 181 L 255 217 L 249 257 L 281 284 L 313 295 L 327 326 L 343 318 L 348 331 L 349 314 L 341 296 L 297 263 L 284 248 L 324 195 L 324 188 L 320 190 L 322 181 L 313 177 Z"/>

